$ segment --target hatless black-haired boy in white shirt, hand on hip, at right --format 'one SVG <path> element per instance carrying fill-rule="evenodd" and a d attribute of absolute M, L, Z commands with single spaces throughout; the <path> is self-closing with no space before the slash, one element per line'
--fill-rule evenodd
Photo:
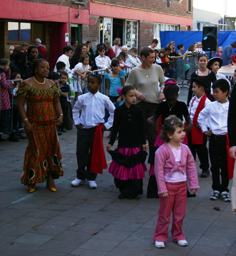
<path fill-rule="evenodd" d="M 209 136 L 209 157 L 212 173 L 212 189 L 210 200 L 220 198 L 230 202 L 229 179 L 227 167 L 227 119 L 229 101 L 227 95 L 230 85 L 227 80 L 219 79 L 212 84 L 213 96 L 216 101 L 204 108 L 198 117 L 198 123 L 206 136 Z M 221 176 L 221 183 L 220 183 Z"/>

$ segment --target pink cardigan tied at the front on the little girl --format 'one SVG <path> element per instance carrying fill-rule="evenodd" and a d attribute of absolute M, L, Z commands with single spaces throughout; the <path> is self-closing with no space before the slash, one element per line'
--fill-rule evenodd
<path fill-rule="evenodd" d="M 170 146 L 165 143 L 155 152 L 155 167 L 158 194 L 168 192 L 164 176 L 171 177 L 173 172 L 179 171 L 186 174 L 189 182 L 189 188 L 199 188 L 198 175 L 193 155 L 188 146 L 181 144 L 181 161 L 176 162 L 175 156 Z"/>

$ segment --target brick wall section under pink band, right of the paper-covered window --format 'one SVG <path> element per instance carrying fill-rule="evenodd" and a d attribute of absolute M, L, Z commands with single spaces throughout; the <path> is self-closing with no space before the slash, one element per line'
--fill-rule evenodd
<path fill-rule="evenodd" d="M 138 49 L 139 51 L 143 47 L 147 47 L 153 40 L 153 29 L 154 23 L 140 21 L 139 23 L 139 38 L 138 38 Z"/>

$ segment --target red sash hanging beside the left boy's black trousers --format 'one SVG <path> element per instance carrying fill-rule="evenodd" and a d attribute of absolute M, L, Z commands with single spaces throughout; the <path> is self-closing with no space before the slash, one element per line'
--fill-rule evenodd
<path fill-rule="evenodd" d="M 102 174 L 102 169 L 107 169 L 107 161 L 103 147 L 102 128 L 102 123 L 95 128 L 91 156 L 91 173 Z"/>

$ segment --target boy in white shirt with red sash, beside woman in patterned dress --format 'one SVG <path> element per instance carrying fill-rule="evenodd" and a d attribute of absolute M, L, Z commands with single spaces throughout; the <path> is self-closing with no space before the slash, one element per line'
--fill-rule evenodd
<path fill-rule="evenodd" d="M 71 182 L 72 186 L 79 186 L 87 180 L 89 188 L 97 188 L 95 183 L 97 174 L 101 174 L 102 169 L 107 168 L 102 132 L 112 127 L 115 106 L 109 97 L 99 93 L 101 83 L 102 78 L 99 75 L 90 75 L 87 86 L 89 92 L 78 97 L 72 110 L 77 128 L 78 163 L 77 178 Z M 110 113 L 106 123 L 104 123 L 105 109 Z"/>

